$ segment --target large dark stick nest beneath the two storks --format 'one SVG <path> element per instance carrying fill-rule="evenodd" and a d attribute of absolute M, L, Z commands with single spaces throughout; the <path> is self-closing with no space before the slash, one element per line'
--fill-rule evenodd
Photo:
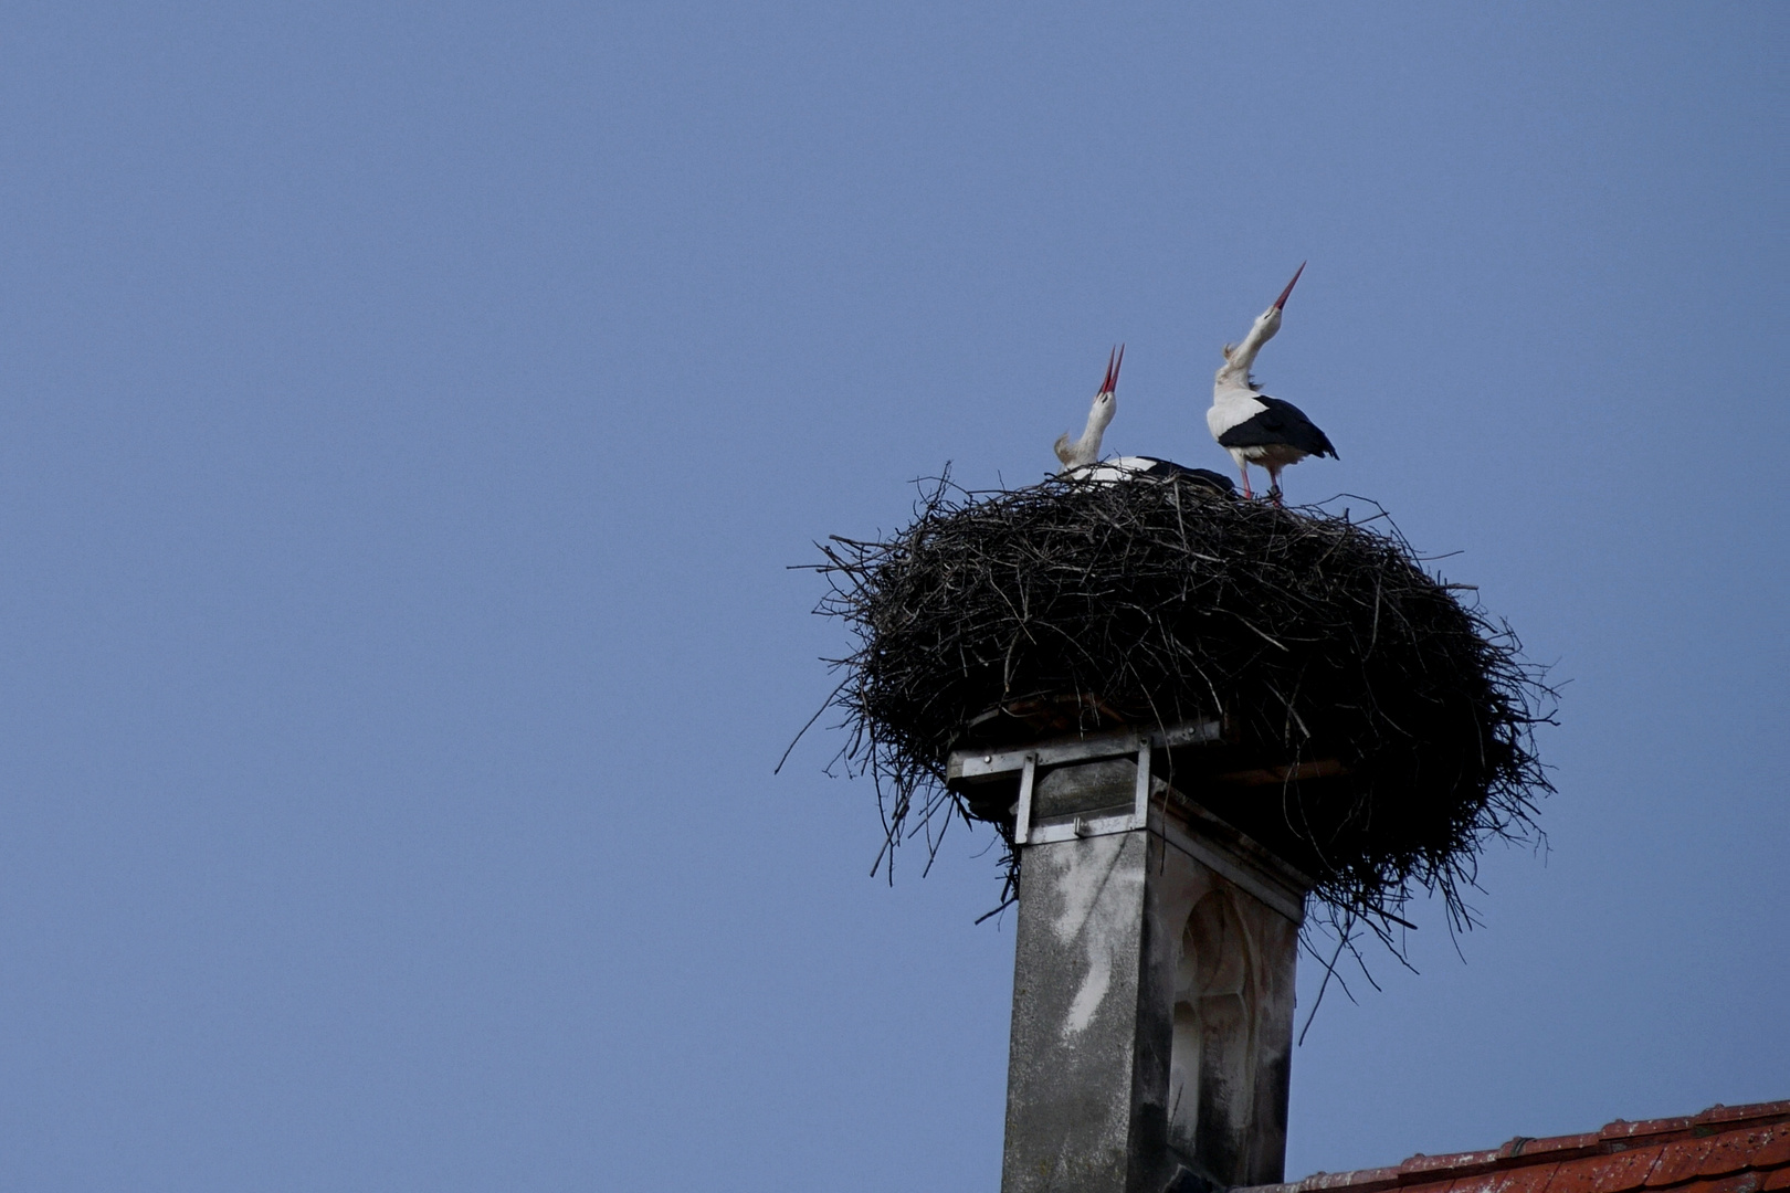
<path fill-rule="evenodd" d="M 1017 880 L 1011 805 L 950 791 L 952 749 L 1217 717 L 1226 744 L 1172 782 L 1310 875 L 1334 918 L 1385 937 L 1423 889 L 1471 923 L 1480 850 L 1539 839 L 1552 692 L 1371 508 L 1283 510 L 1189 476 L 942 479 L 886 540 L 832 538 L 818 612 L 856 639 L 832 705 L 890 846 L 992 821 Z"/>

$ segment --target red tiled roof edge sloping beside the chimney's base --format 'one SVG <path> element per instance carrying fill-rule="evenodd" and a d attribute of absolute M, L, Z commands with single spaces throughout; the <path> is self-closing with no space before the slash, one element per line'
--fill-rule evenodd
<path fill-rule="evenodd" d="M 1790 1189 L 1790 1102 L 1616 1120 L 1493 1152 L 1412 1155 L 1396 1168 L 1321 1172 L 1248 1193 L 1777 1193 Z M 1246 1193 L 1246 1191 L 1237 1191 Z"/>

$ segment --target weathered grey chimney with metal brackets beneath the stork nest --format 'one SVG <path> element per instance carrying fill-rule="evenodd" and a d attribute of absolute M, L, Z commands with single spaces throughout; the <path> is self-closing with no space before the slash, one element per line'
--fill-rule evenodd
<path fill-rule="evenodd" d="M 1308 882 L 1151 776 L 1203 732 L 970 760 L 1022 771 L 1002 1193 L 1283 1177 Z"/>

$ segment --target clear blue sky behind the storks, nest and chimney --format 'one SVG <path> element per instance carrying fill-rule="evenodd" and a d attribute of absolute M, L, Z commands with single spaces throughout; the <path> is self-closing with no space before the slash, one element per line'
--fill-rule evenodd
<path fill-rule="evenodd" d="M 1752 5 L 0 18 L 20 1189 L 992 1189 L 988 837 L 866 876 L 827 533 L 1223 467 L 1258 372 L 1570 680 L 1552 850 L 1289 1168 L 1790 1096 L 1785 50 Z M 1314 984 L 1305 984 L 1310 1002 Z"/>

